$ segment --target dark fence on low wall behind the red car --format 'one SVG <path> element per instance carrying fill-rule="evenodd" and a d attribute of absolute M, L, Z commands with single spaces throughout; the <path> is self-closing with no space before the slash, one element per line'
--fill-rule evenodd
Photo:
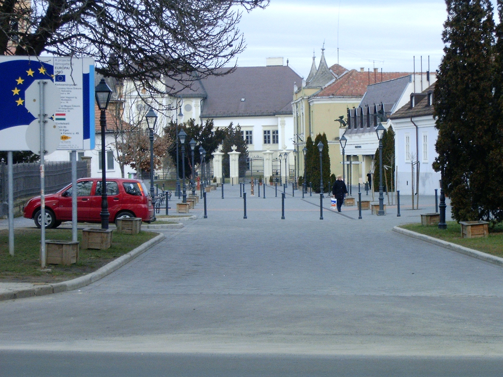
<path fill-rule="evenodd" d="M 12 166 L 14 200 L 40 195 L 40 164 L 38 162 L 20 163 Z M 89 176 L 87 161 L 77 161 L 77 179 Z M 7 163 L 0 162 L 0 216 L 7 215 L 8 207 Z M 71 162 L 45 163 L 45 192 L 55 193 L 71 183 Z"/>

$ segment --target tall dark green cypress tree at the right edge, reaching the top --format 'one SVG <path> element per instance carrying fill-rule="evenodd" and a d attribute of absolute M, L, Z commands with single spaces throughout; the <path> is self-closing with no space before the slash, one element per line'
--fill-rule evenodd
<path fill-rule="evenodd" d="M 494 86 L 492 7 L 489 0 L 446 3 L 445 55 L 434 93 L 439 136 L 433 167 L 442 172 L 456 220 L 503 220 L 502 202 L 496 202 L 501 194 L 494 194 L 503 190 L 498 177 L 503 167 L 495 155 L 501 155 L 495 143 L 502 139 L 494 112 L 501 90 Z"/>

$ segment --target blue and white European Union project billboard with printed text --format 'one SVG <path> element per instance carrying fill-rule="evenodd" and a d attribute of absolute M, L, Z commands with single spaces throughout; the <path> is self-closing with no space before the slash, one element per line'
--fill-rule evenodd
<path fill-rule="evenodd" d="M 27 106 L 25 91 L 40 80 L 52 81 L 61 93 L 60 107 L 47 115 L 62 135 L 58 149 L 94 149 L 93 59 L 0 56 L 0 79 L 3 83 L 0 86 L 0 111 L 3 115 L 0 150 L 30 150 L 26 130 L 39 115 L 38 111 L 35 111 L 36 114 L 33 111 L 36 107 Z M 33 98 L 29 100 L 36 101 Z"/>

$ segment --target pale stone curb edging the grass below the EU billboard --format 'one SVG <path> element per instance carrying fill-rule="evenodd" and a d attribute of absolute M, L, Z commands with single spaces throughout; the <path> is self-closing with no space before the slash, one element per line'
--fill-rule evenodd
<path fill-rule="evenodd" d="M 158 234 L 154 238 L 148 240 L 144 244 L 138 246 L 137 248 L 131 250 L 130 252 L 120 256 L 119 258 L 105 264 L 103 267 L 91 272 L 85 276 L 76 277 L 72 280 L 62 281 L 55 284 L 47 284 L 42 286 L 35 286 L 28 289 L 12 290 L 7 292 L 0 292 L 0 301 L 2 300 L 14 300 L 21 299 L 25 297 L 33 296 L 44 296 L 50 295 L 52 293 L 59 293 L 65 291 L 73 291 L 75 289 L 85 287 L 90 285 L 108 274 L 114 272 L 115 270 L 122 267 L 124 264 L 136 258 L 138 255 L 144 253 L 152 246 L 158 244 L 166 236 L 164 234 Z"/>

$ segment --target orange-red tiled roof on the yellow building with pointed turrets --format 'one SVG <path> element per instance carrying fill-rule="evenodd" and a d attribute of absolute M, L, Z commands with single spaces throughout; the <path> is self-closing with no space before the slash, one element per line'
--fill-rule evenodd
<path fill-rule="evenodd" d="M 333 67 L 333 66 L 332 66 Z M 352 69 L 345 75 L 332 82 L 330 85 L 319 91 L 314 97 L 356 97 L 361 98 L 367 91 L 367 85 L 377 82 L 388 81 L 398 77 L 403 77 L 409 73 L 404 72 L 360 72 Z M 381 79 L 382 77 L 382 79 Z"/>

